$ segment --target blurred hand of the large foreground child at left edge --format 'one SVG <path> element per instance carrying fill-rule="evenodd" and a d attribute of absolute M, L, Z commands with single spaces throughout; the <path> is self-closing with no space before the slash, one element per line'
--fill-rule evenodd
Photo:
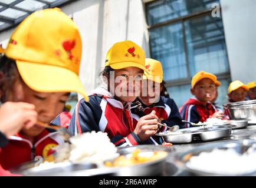
<path fill-rule="evenodd" d="M 0 108 L 0 131 L 9 137 L 22 127 L 32 127 L 37 122 L 35 106 L 23 102 L 6 102 Z"/>

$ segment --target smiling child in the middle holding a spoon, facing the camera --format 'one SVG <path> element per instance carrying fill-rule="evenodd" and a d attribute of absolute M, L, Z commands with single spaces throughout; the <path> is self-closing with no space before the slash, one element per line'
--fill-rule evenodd
<path fill-rule="evenodd" d="M 92 130 L 106 132 L 116 146 L 151 143 L 157 132 L 155 111 L 133 124 L 131 103 L 140 95 L 145 68 L 143 49 L 132 41 L 115 43 L 107 52 L 102 72 L 106 88 L 97 88 L 77 103 L 68 130 L 81 134 Z"/>

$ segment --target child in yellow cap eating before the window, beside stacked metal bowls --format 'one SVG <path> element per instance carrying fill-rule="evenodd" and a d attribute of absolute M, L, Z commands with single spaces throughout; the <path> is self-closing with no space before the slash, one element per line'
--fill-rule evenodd
<path fill-rule="evenodd" d="M 179 110 L 183 120 L 198 123 L 208 118 L 222 119 L 224 113 L 218 111 L 211 103 L 216 97 L 216 87 L 221 85 L 215 75 L 205 71 L 196 73 L 191 81 L 191 93 L 194 98 L 189 99 Z M 185 127 L 189 127 L 188 124 Z"/>

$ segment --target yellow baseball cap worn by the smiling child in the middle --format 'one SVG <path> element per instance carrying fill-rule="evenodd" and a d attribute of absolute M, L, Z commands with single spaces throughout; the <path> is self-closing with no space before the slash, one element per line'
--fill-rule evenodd
<path fill-rule="evenodd" d="M 107 52 L 105 66 L 110 66 L 112 69 L 135 66 L 147 72 L 145 53 L 140 46 L 132 41 L 114 43 Z"/>

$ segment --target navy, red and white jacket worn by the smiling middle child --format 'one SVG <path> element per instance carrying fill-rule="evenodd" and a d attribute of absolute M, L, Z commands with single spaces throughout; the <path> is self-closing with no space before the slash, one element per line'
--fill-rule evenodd
<path fill-rule="evenodd" d="M 111 142 L 120 147 L 154 144 L 150 139 L 142 142 L 134 133 L 136 125 L 129 126 L 131 123 L 127 123 L 132 122 L 130 103 L 123 106 L 122 102 L 113 98 L 106 90 L 96 90 L 96 93 L 89 96 L 89 102 L 81 99 L 77 103 L 68 127 L 71 135 L 94 130 L 106 132 Z"/>

